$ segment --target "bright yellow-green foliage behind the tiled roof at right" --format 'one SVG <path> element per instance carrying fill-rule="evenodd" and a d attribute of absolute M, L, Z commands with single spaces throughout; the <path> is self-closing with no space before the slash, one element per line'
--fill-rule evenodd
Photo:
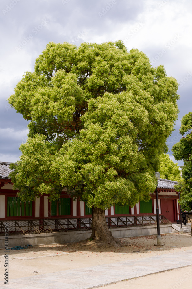
<path fill-rule="evenodd" d="M 172 160 L 170 160 L 169 155 L 165 153 L 160 155 L 160 166 L 158 172 L 160 173 L 161 179 L 182 181 L 179 166 L 177 163 L 175 164 Z"/>

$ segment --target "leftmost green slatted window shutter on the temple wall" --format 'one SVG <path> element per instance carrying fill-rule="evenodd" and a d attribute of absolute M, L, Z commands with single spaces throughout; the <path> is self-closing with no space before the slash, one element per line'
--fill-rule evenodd
<path fill-rule="evenodd" d="M 19 197 L 7 197 L 7 216 L 32 216 L 32 201 L 22 202 Z"/>

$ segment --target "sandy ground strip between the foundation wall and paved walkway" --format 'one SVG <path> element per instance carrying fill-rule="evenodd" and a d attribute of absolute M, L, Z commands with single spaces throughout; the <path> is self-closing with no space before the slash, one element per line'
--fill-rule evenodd
<path fill-rule="evenodd" d="M 38 274 L 53 273 L 68 269 L 84 268 L 88 266 L 97 266 L 99 264 L 115 263 L 117 261 L 125 261 L 125 260 L 127 261 L 136 258 L 139 259 L 150 256 L 157 256 L 161 254 L 192 250 L 192 237 L 190 236 L 190 234 L 171 233 L 171 234 L 163 234 L 161 236 L 162 236 L 161 237 L 162 244 L 165 244 L 163 249 L 156 249 L 156 247 L 154 247 L 154 244 L 156 243 L 156 236 L 142 236 L 142 237 L 121 238 L 120 240 L 128 241 L 130 243 L 130 246 L 125 246 L 118 249 L 112 248 L 98 249 L 93 247 L 93 242 L 89 242 L 88 246 L 84 246 L 81 243 L 72 245 L 54 244 L 54 245 L 35 246 L 34 248 L 29 247 L 25 250 L 16 250 L 16 251 L 10 250 L 9 253 L 10 279 L 26 276 L 34 276 L 34 271 L 37 271 Z M 76 252 L 63 254 L 63 252 L 67 250 L 75 250 Z M 134 251 L 139 252 L 135 253 Z M 53 256 L 49 257 L 49 255 Z M 5 257 L 3 256 L 4 250 L 1 249 L 0 250 L 1 281 L 3 281 L 4 278 L 3 273 L 4 273 Z M 34 258 L 34 259 L 17 259 L 17 258 Z M 181 275 L 182 274 L 183 273 L 181 273 Z M 156 275 L 159 276 L 159 274 Z M 154 276 L 148 276 L 143 278 L 153 278 Z M 190 279 L 192 280 L 192 275 Z M 118 284 L 116 285 L 120 286 Z M 123 287 L 111 287 L 111 288 L 123 288 Z M 136 288 L 136 287 L 125 286 L 125 288 Z M 144 287 L 141 288 L 144 289 Z M 151 287 L 151 288 L 158 288 L 158 287 Z M 192 285 L 190 289 L 191 288 Z"/>

